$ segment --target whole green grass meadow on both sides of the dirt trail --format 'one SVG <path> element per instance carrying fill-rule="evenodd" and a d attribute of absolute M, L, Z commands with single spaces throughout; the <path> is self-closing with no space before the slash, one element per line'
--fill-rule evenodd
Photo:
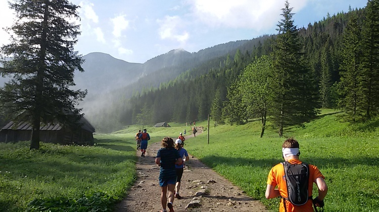
<path fill-rule="evenodd" d="M 325 176 L 325 211 L 378 211 L 379 119 L 350 126 L 339 122 L 340 113 L 322 112 L 310 123 L 286 129 L 284 135 L 298 139 L 300 159 L 315 164 Z M 191 133 L 191 127 L 182 123 L 170 125 L 145 127 L 150 144 L 164 136 L 175 138 L 184 128 Z M 112 211 L 135 180 L 138 128 L 97 134 L 92 147 L 41 143 L 40 150 L 29 151 L 29 142 L 0 144 L 0 211 Z M 185 149 L 277 211 L 279 199 L 267 200 L 264 192 L 269 170 L 282 161 L 284 138 L 270 126 L 259 138 L 259 121 L 211 125 L 209 131 L 209 144 L 205 131 L 188 139 Z"/>

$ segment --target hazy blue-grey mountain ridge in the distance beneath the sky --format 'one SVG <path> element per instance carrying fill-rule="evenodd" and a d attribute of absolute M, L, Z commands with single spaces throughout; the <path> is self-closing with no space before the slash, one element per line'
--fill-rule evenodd
<path fill-rule="evenodd" d="M 84 72 L 75 72 L 75 89 L 87 89 L 87 97 L 91 97 L 114 90 L 125 90 L 126 86 L 133 84 L 131 88 L 133 90 L 136 88 L 138 91 L 142 88 L 158 87 L 161 83 L 175 79 L 204 61 L 235 52 L 236 48 L 247 42 L 251 41 L 231 41 L 194 53 L 184 49 L 174 49 L 143 64 L 126 62 L 106 53 L 89 53 L 83 56 Z M 127 92 L 131 94 L 133 91 L 127 89 Z M 88 101 L 87 98 L 84 101 Z"/>

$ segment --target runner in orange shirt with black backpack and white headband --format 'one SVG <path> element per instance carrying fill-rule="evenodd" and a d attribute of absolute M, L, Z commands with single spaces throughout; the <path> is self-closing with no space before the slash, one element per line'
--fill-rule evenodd
<path fill-rule="evenodd" d="M 320 170 L 299 160 L 299 143 L 294 138 L 285 140 L 282 153 L 285 162 L 275 165 L 268 173 L 266 198 L 280 196 L 279 212 L 313 211 L 312 187 L 315 183 L 318 196 L 313 199 L 313 206 L 316 211 L 316 206 L 323 207 L 327 186 Z"/>

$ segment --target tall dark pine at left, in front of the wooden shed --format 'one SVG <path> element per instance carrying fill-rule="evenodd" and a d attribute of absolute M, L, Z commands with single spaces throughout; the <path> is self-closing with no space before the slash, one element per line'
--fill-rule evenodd
<path fill-rule="evenodd" d="M 74 51 L 79 25 L 77 9 L 66 0 L 15 0 L 10 8 L 18 20 L 7 28 L 11 43 L 1 52 L 12 56 L 3 61 L 2 75 L 13 79 L 0 90 L 2 106 L 18 119 L 28 120 L 33 126 L 30 149 L 39 149 L 40 123 L 59 121 L 77 123 L 80 109 L 75 105 L 86 91 L 74 91 L 74 70 L 81 72 L 81 55 Z"/>

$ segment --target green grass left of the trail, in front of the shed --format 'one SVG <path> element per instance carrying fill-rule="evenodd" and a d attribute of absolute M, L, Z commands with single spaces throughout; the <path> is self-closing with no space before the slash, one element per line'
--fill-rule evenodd
<path fill-rule="evenodd" d="M 1 144 L 0 211 L 25 211 L 33 199 L 123 197 L 135 179 L 134 142 L 114 135 L 97 138 L 98 146 L 41 143 L 38 151 L 29 151 L 29 142 Z"/>

